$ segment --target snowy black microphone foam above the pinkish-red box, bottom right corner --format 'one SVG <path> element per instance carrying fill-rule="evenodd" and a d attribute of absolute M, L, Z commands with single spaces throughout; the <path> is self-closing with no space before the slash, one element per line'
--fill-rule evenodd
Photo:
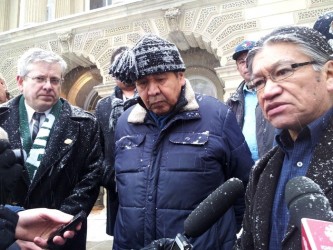
<path fill-rule="evenodd" d="M 320 186 L 305 176 L 291 179 L 286 184 L 285 200 L 290 222 L 301 230 L 301 219 L 333 222 L 330 203 Z"/>

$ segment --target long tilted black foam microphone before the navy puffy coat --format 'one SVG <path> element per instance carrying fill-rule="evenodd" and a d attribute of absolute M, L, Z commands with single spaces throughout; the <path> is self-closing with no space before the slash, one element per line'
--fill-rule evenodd
<path fill-rule="evenodd" d="M 206 232 L 244 194 L 243 182 L 231 178 L 219 186 L 184 222 L 185 236 L 196 238 Z"/>

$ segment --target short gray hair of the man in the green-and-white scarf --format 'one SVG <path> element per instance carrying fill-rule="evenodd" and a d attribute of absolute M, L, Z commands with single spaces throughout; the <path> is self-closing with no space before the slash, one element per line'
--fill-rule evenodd
<path fill-rule="evenodd" d="M 32 48 L 27 50 L 17 61 L 17 75 L 26 76 L 29 73 L 28 66 L 32 63 L 46 62 L 49 64 L 58 63 L 61 66 L 61 75 L 67 69 L 67 63 L 58 54 L 43 50 L 40 48 Z"/>

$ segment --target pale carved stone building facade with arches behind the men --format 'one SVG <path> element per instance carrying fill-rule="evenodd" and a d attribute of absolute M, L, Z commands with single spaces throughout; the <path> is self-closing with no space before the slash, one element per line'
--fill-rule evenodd
<path fill-rule="evenodd" d="M 18 94 L 16 62 L 40 47 L 68 63 L 62 96 L 94 110 L 113 91 L 112 52 L 145 33 L 174 42 L 186 77 L 202 93 L 226 100 L 240 82 L 231 55 L 244 39 L 275 27 L 312 27 L 332 0 L 0 0 L 0 72 Z"/>

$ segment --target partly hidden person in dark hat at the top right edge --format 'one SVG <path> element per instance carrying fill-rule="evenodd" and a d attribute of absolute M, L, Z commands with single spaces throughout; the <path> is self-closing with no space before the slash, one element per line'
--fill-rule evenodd
<path fill-rule="evenodd" d="M 333 11 L 329 11 L 319 16 L 313 25 L 313 29 L 325 36 L 327 42 L 333 48 Z"/>

